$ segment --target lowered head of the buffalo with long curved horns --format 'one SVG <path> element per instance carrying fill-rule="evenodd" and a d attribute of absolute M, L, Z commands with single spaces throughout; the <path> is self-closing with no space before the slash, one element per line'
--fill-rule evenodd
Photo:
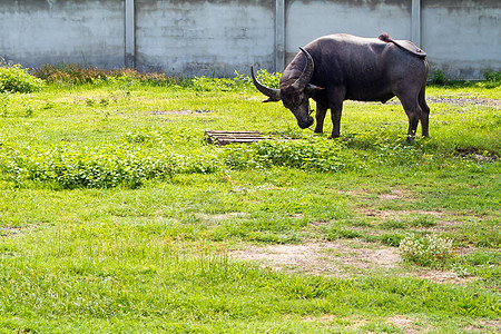
<path fill-rule="evenodd" d="M 310 98 L 315 91 L 322 90 L 323 88 L 310 84 L 315 65 L 313 62 L 312 56 L 305 49 L 299 49 L 306 56 L 306 66 L 304 67 L 301 76 L 294 81 L 294 84 L 283 86 L 281 82 L 279 89 L 273 89 L 257 81 L 256 77 L 254 76 L 254 68 L 250 68 L 250 73 L 253 77 L 254 86 L 256 86 L 257 90 L 268 97 L 266 100 L 264 100 L 264 102 L 276 102 L 282 100 L 284 107 L 289 109 L 296 117 L 299 128 L 305 129 L 313 124 L 313 118 L 310 116 Z M 292 69 L 287 67 L 284 73 L 287 70 Z"/>

